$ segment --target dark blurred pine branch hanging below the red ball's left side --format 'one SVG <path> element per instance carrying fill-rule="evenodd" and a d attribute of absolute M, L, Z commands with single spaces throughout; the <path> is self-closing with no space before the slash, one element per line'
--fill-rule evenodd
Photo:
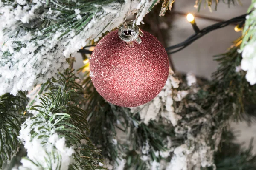
<path fill-rule="evenodd" d="M 102 150 L 102 156 L 109 161 L 116 161 L 124 155 L 124 147 L 117 142 L 116 127 L 126 131 L 126 110 L 105 101 L 93 87 L 89 72 L 85 73 L 84 81 L 84 110 L 90 124 L 90 139 Z M 125 120 L 125 121 L 123 121 Z"/>

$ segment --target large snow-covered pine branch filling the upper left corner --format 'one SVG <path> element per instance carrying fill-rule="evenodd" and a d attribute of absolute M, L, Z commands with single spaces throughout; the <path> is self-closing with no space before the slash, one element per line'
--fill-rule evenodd
<path fill-rule="evenodd" d="M 87 40 L 118 27 L 127 14 L 136 24 L 157 0 L 0 1 L 0 95 L 31 90 L 63 72 L 70 54 Z"/>

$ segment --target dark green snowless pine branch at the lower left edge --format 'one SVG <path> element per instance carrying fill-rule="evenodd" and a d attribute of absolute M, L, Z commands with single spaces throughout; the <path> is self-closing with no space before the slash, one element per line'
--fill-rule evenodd
<path fill-rule="evenodd" d="M 9 163 L 17 153 L 20 125 L 24 121 L 27 97 L 22 92 L 17 96 L 4 94 L 0 97 L 0 168 Z"/>

